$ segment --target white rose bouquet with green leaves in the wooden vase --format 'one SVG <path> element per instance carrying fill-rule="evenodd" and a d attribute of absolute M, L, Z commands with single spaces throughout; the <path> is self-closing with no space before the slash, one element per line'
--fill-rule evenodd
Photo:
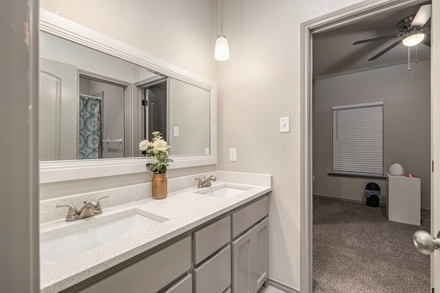
<path fill-rule="evenodd" d="M 146 152 L 148 157 L 156 157 L 154 164 L 146 164 L 146 168 L 155 174 L 165 174 L 166 167 L 169 166 L 168 163 L 173 162 L 168 154 L 170 146 L 162 139 L 162 133 L 159 131 L 153 132 L 153 142 L 142 140 L 142 142 L 139 143 L 139 149 L 140 151 Z"/>

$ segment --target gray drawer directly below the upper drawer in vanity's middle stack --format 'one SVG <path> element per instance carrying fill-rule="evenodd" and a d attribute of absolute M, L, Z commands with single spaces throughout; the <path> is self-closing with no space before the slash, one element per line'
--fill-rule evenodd
<path fill-rule="evenodd" d="M 194 269 L 195 293 L 222 293 L 231 283 L 231 247 Z"/>

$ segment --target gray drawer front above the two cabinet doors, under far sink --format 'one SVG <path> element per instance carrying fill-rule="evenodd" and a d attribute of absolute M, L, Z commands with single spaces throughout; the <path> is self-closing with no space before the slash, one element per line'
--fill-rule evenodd
<path fill-rule="evenodd" d="M 232 213 L 232 238 L 240 235 L 241 232 L 248 229 L 267 214 L 269 214 L 269 197 L 267 195 L 258 202 L 254 202 L 254 204 Z"/>

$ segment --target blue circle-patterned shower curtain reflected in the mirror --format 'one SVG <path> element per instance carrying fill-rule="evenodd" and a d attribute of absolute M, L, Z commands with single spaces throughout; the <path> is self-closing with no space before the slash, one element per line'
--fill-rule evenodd
<path fill-rule="evenodd" d="M 101 100 L 80 95 L 78 159 L 101 157 Z"/>

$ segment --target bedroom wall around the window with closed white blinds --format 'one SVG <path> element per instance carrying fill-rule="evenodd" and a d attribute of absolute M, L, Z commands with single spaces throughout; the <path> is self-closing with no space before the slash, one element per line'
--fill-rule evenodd
<path fill-rule="evenodd" d="M 331 107 L 384 102 L 384 173 L 399 162 L 421 177 L 421 207 L 430 208 L 430 61 L 417 65 L 325 78 L 314 82 L 314 194 L 365 201 L 365 185 L 376 182 L 386 195 L 386 181 L 330 177 Z M 382 200 L 386 203 L 386 200 Z"/>

